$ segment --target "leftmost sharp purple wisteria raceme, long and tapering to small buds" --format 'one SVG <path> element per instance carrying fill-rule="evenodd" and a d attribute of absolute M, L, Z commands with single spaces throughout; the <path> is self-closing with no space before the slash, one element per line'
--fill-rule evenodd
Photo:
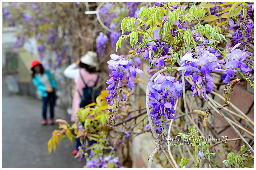
<path fill-rule="evenodd" d="M 109 84 L 106 88 L 106 90 L 109 90 L 106 99 L 112 99 L 108 100 L 109 106 L 112 107 L 108 110 L 113 112 L 113 114 L 107 118 L 110 119 L 108 124 L 110 124 L 110 127 L 113 127 L 113 124 L 115 124 L 115 116 L 117 116 L 117 118 L 120 117 L 119 114 L 116 113 L 118 107 L 122 108 L 119 102 L 126 101 L 125 93 L 123 93 L 121 87 L 123 78 L 125 78 L 128 88 L 132 89 L 132 87 L 135 86 L 132 78 L 135 78 L 137 73 L 144 74 L 144 72 L 137 68 L 137 66 L 132 66 L 132 61 L 128 58 L 124 58 L 122 55 L 111 54 L 110 57 L 112 60 L 108 61 L 108 68 L 112 71 L 109 73 L 111 78 L 106 82 Z M 122 98 L 119 97 L 121 93 Z"/>

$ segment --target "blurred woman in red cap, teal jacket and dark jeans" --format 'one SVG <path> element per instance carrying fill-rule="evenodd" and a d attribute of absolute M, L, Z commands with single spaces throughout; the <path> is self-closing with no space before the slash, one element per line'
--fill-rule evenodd
<path fill-rule="evenodd" d="M 33 83 L 38 89 L 39 94 L 42 97 L 43 108 L 42 108 L 42 116 L 43 121 L 42 125 L 47 124 L 47 105 L 50 104 L 50 120 L 49 124 L 54 124 L 54 106 L 56 95 L 55 91 L 57 88 L 57 83 L 55 79 L 52 77 L 52 74 L 49 70 L 44 69 L 42 64 L 38 60 L 33 60 L 31 62 L 31 70 L 32 70 L 32 78 Z"/>

